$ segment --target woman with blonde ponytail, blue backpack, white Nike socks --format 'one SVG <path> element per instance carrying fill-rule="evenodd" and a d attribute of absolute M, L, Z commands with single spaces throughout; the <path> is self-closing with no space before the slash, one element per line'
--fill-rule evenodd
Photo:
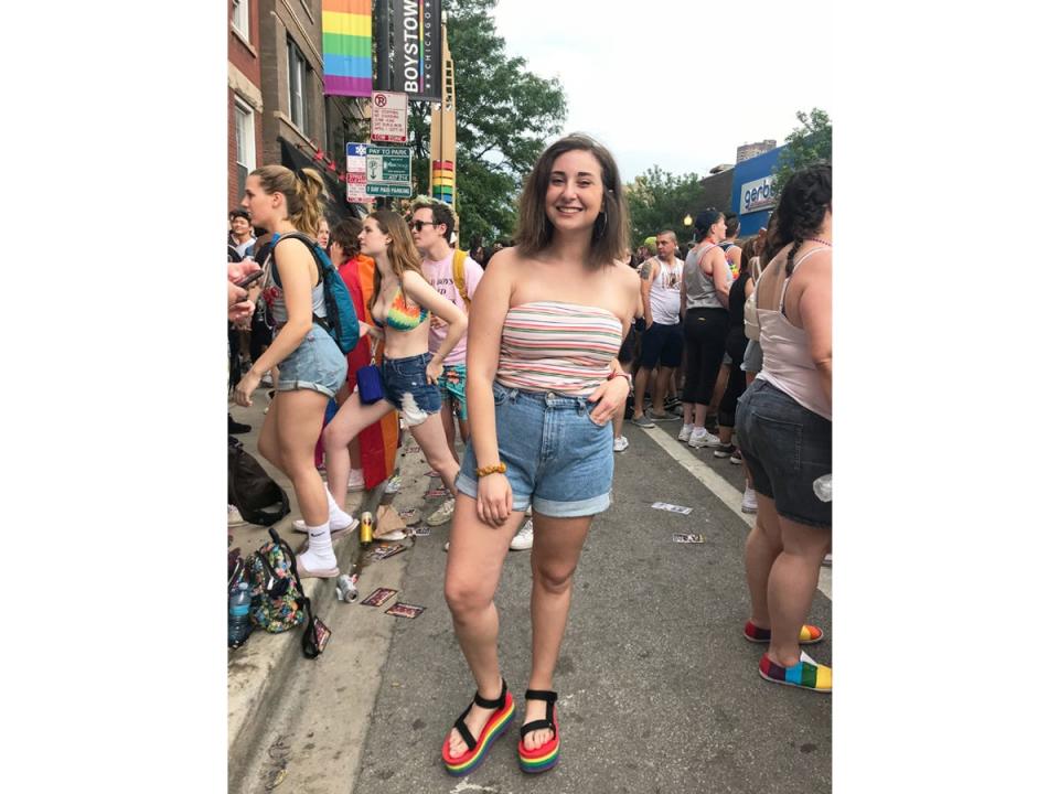
<path fill-rule="evenodd" d="M 300 232 L 315 237 L 322 192 L 323 179 L 312 169 L 293 172 L 265 165 L 246 178 L 243 198 L 250 223 L 272 234 L 261 296 L 276 320 L 276 336 L 235 387 L 235 400 L 250 405 L 261 377 L 279 366 L 276 397 L 265 415 L 257 448 L 295 486 L 309 534 L 308 548 L 298 556 L 302 577 L 339 575 L 328 522 L 333 502 L 329 506 L 313 452 L 328 400 L 345 380 L 346 364 L 331 335 L 313 321 L 313 315 L 327 316 L 327 308 L 312 251 L 301 240 L 279 236 Z M 365 326 L 361 328 L 363 333 Z M 352 526 L 331 529 L 338 537 Z"/>

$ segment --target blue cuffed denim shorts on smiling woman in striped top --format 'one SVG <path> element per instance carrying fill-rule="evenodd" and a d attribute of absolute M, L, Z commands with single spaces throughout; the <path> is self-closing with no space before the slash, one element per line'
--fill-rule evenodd
<path fill-rule="evenodd" d="M 614 433 L 609 421 L 600 426 L 588 418 L 595 403 L 495 383 L 493 403 L 514 509 L 523 512 L 532 502 L 535 513 L 575 518 L 610 506 Z M 474 448 L 468 444 L 456 487 L 471 497 L 478 496 L 478 466 Z"/>

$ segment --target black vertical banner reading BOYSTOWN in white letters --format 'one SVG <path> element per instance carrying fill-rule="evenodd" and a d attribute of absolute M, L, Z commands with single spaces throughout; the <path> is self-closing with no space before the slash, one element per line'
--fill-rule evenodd
<path fill-rule="evenodd" d="M 388 0 L 394 25 L 391 90 L 441 101 L 441 0 Z"/>

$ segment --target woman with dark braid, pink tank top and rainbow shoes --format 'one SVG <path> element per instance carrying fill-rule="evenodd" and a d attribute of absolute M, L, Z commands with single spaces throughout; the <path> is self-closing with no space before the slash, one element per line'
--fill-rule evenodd
<path fill-rule="evenodd" d="M 831 691 L 831 668 L 803 658 L 823 632 L 804 625 L 831 546 L 831 503 L 813 482 L 831 473 L 831 165 L 794 174 L 766 243 L 757 286 L 764 363 L 736 408 L 736 432 L 758 495 L 747 538 L 750 620 L 769 643 L 763 678 Z"/>

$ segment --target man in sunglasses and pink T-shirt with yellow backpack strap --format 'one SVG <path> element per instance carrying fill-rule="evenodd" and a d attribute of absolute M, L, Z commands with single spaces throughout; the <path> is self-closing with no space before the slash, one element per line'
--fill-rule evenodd
<path fill-rule="evenodd" d="M 456 218 L 448 204 L 430 200 L 418 200 L 411 205 L 411 239 L 422 256 L 422 275 L 440 294 L 457 305 L 464 314 L 470 310 L 474 290 L 482 279 L 482 267 L 467 255 L 449 245 L 449 237 L 456 226 Z M 434 353 L 445 340 L 445 323 L 434 313 L 430 314 L 430 352 Z M 467 336 L 445 358 L 441 380 L 443 405 L 441 425 L 449 442 L 452 457 L 460 460 L 456 452 L 456 427 L 452 412 L 456 411 L 460 425 L 460 439 L 466 446 L 470 437 L 467 423 Z M 452 513 L 453 500 L 448 500 L 438 512 L 427 518 L 431 526 L 443 523 Z"/>

